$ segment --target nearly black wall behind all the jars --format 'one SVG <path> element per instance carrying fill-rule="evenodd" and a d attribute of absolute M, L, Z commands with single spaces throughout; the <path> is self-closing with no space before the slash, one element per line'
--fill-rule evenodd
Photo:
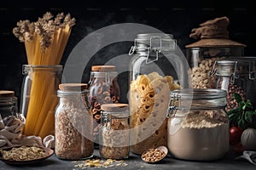
<path fill-rule="evenodd" d="M 26 64 L 24 43 L 13 35 L 12 29 L 19 20 L 36 21 L 46 11 L 52 14 L 70 13 L 77 23 L 61 64 L 65 65 L 73 47 L 90 32 L 116 23 L 140 23 L 154 26 L 160 31 L 172 33 L 177 44 L 184 51 L 186 44 L 194 42 L 189 38 L 192 28 L 206 20 L 227 16 L 230 19 L 230 39 L 247 44 L 245 55 L 255 55 L 256 46 L 256 10 L 253 1 L 33 1 L 5 2 L 0 5 L 0 89 L 15 90 L 20 98 L 22 83 L 22 65 Z M 104 64 L 108 59 L 125 54 L 131 43 L 119 42 L 111 47 L 102 48 L 91 61 Z M 88 65 L 83 81 L 87 82 Z M 123 78 L 126 75 L 123 75 Z M 121 76 L 122 77 L 122 76 Z M 125 83 L 122 82 L 124 85 Z M 124 89 L 126 89 L 124 85 Z M 125 93 L 123 90 L 122 93 Z"/>

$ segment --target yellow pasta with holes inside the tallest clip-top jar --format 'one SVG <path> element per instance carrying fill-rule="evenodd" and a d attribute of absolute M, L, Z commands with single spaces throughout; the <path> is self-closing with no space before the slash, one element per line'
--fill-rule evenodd
<path fill-rule="evenodd" d="M 166 111 L 170 90 L 179 89 L 172 76 L 157 72 L 140 75 L 130 84 L 131 151 L 143 154 L 149 148 L 166 145 Z"/>

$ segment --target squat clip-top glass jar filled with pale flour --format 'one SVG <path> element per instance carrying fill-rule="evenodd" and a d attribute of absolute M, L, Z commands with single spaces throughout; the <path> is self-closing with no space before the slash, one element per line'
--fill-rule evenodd
<path fill-rule="evenodd" d="M 226 91 L 186 88 L 170 94 L 168 149 L 183 160 L 213 161 L 229 150 Z"/>

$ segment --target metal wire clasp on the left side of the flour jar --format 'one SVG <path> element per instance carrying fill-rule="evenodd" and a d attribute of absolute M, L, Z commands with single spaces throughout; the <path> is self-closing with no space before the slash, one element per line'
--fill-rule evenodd
<path fill-rule="evenodd" d="M 175 105 L 177 101 L 178 101 L 178 106 Z M 181 108 L 181 96 L 174 94 L 169 101 L 169 106 L 166 111 L 166 117 L 167 118 L 174 117 L 179 108 Z"/>

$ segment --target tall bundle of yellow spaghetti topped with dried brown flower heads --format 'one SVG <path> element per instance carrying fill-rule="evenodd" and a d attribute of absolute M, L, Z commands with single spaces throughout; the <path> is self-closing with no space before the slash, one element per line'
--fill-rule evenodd
<path fill-rule="evenodd" d="M 44 138 L 54 134 L 54 110 L 58 103 L 55 87 L 60 83 L 54 66 L 61 62 L 74 24 L 70 14 L 61 13 L 54 18 L 47 12 L 36 22 L 20 20 L 13 29 L 15 37 L 25 42 L 27 62 L 33 69 L 25 135 Z"/>

